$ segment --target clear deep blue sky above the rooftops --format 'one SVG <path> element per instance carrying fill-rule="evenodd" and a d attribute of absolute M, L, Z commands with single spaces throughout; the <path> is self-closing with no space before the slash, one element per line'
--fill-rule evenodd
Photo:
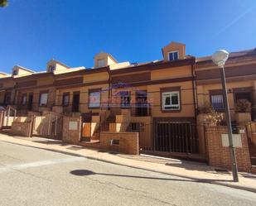
<path fill-rule="evenodd" d="M 54 58 L 93 66 L 104 50 L 118 61 L 161 60 L 171 41 L 187 55 L 256 47 L 255 0 L 9 0 L 0 7 L 0 71 L 44 70 Z"/>

